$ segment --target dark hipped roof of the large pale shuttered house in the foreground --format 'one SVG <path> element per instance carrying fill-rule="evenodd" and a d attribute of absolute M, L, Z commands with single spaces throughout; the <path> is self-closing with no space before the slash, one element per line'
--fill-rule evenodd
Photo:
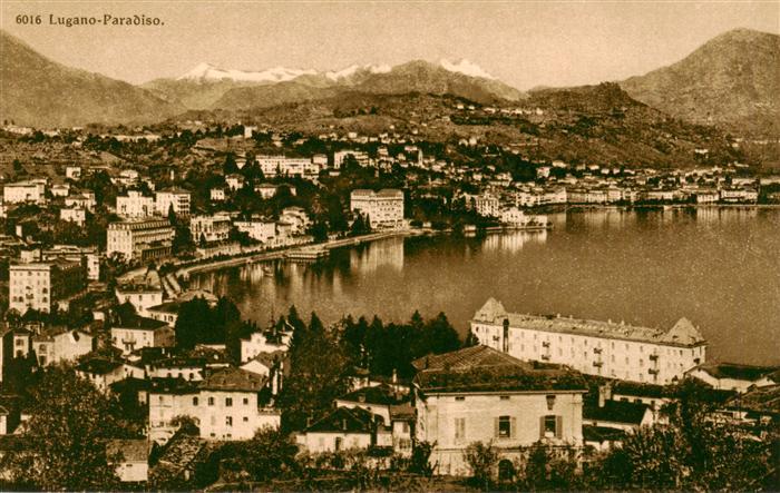
<path fill-rule="evenodd" d="M 428 393 L 575 391 L 582 375 L 559 365 L 523 362 L 487 346 L 431 355 L 412 362 L 415 385 Z"/>

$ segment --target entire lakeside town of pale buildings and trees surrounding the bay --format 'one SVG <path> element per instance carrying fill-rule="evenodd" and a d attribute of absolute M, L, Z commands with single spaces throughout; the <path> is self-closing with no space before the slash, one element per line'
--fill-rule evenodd
<path fill-rule="evenodd" d="M 96 135 L 7 124 L 1 137 L 3 156 L 17 156 L 0 206 L 0 475 L 10 486 L 275 489 L 301 471 L 369 481 L 360 466 L 374 481 L 403 473 L 476 487 L 741 490 L 777 473 L 780 367 L 709 363 L 703 331 L 685 318 L 659 329 L 513 314 L 486 293 L 461 341 L 443 314 L 387 325 L 344 314 L 329 327 L 294 307 L 250 317 L 187 277 L 271 258 L 315 263 L 387 236 L 547 230 L 546 215 L 567 208 L 769 207 L 780 203 L 778 175 L 713 162 L 705 148 L 693 167 L 602 166 L 396 128 L 303 136 L 186 120 Z M 42 452 L 58 440 L 52 423 L 86 420 L 82 402 L 111 423 L 80 431 L 101 459 L 58 463 L 69 480 L 42 474 L 55 461 Z M 684 479 L 594 473 L 610 461 L 644 466 L 642 446 L 662 440 L 654 433 L 694 425 L 722 441 L 706 444 L 713 456 L 739 444 L 733 474 L 718 479 L 727 482 L 690 464 Z M 76 477 L 87 466 L 94 483 Z"/>

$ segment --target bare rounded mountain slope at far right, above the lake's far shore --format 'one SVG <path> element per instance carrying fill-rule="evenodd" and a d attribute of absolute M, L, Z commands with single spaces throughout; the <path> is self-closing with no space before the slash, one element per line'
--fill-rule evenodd
<path fill-rule="evenodd" d="M 780 135 L 780 36 L 725 32 L 669 67 L 620 82 L 634 99 L 700 124 Z"/>

